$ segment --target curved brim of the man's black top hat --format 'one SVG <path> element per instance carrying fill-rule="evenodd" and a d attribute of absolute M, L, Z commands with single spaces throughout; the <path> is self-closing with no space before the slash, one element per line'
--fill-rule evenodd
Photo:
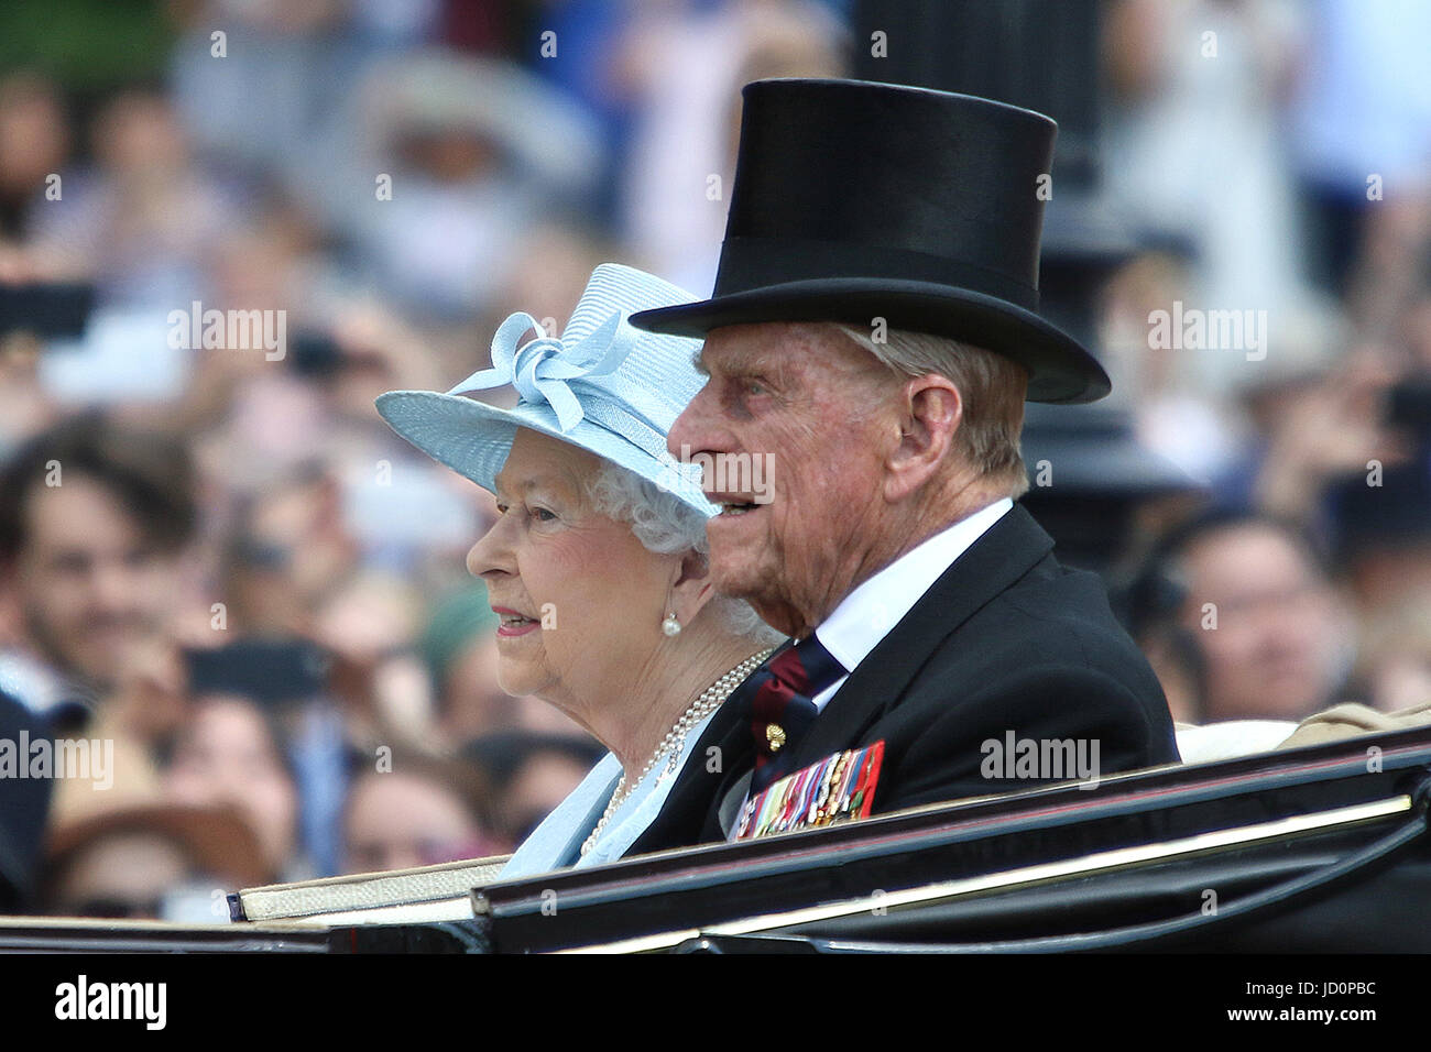
<path fill-rule="evenodd" d="M 631 323 L 673 336 L 705 336 L 724 325 L 846 322 L 959 339 L 1012 358 L 1029 369 L 1030 402 L 1082 404 L 1103 398 L 1112 382 L 1076 339 L 1023 308 L 969 289 L 917 281 L 823 278 L 733 292 L 695 303 L 631 315 Z"/>

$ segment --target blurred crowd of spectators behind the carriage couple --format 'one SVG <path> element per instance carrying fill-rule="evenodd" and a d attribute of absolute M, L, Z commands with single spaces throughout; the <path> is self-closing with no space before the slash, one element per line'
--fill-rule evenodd
<path fill-rule="evenodd" d="M 49 793 L 0 910 L 215 919 L 504 853 L 581 780 L 604 749 L 497 683 L 489 497 L 373 398 L 485 366 L 511 311 L 560 329 L 602 260 L 707 293 L 740 84 L 847 73 L 859 11 L 0 9 L 0 737 L 114 750 L 107 789 L 0 783 Z M 1398 0 L 1103 7 L 1141 242 L 1098 346 L 1178 484 L 1098 568 L 1181 721 L 1431 700 L 1428 42 Z M 1265 311 L 1265 354 L 1151 346 L 1173 302 Z M 283 354 L 175 346 L 207 309 L 282 312 Z"/>

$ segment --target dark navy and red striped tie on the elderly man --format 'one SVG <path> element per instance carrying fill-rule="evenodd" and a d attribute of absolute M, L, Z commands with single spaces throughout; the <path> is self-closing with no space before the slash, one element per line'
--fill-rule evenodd
<path fill-rule="evenodd" d="M 844 666 L 810 635 L 777 650 L 741 684 L 737 704 L 756 739 L 751 793 L 790 773 L 793 746 L 820 714 L 810 698 L 844 674 Z"/>

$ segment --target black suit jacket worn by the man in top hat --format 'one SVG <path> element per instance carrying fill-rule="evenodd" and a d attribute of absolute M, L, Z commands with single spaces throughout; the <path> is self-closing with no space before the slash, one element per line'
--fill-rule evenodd
<path fill-rule="evenodd" d="M 1108 605 L 1019 504 L 946 570 L 870 651 L 788 770 L 884 741 L 874 813 L 1015 792 L 1053 779 L 986 777 L 986 741 L 1098 743 L 1098 773 L 1178 761 L 1168 701 Z M 630 854 L 723 840 L 721 800 L 750 770 L 750 726 L 728 700 Z M 1075 777 L 1070 771 L 1065 777 Z"/>

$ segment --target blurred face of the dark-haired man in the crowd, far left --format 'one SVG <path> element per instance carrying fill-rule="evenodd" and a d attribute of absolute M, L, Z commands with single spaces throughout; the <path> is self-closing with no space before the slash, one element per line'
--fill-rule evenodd
<path fill-rule="evenodd" d="M 14 585 L 26 627 L 49 660 L 102 688 L 153 633 L 175 591 L 175 561 L 100 482 L 69 474 L 34 484 Z"/>

